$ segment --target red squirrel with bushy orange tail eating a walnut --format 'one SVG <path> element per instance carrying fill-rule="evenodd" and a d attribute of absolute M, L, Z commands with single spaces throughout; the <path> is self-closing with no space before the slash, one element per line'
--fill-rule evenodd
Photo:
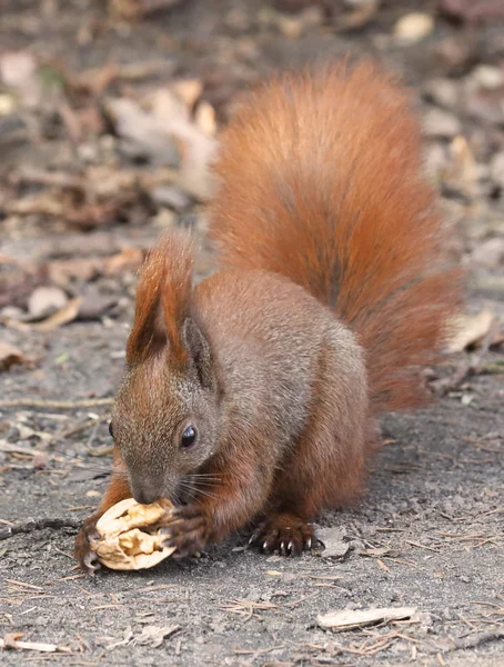
<path fill-rule="evenodd" d="M 139 279 L 98 518 L 171 499 L 180 557 L 253 526 L 265 552 L 314 545 L 312 521 L 360 496 L 385 410 L 426 397 L 460 303 L 422 175 L 409 98 L 370 62 L 263 84 L 220 137 L 209 236 L 221 270 L 192 285 L 169 232 Z"/>

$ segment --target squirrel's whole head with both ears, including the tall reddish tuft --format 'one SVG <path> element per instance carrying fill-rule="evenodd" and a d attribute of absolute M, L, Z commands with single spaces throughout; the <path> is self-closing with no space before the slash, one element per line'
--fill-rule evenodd
<path fill-rule="evenodd" d="M 139 281 L 127 372 L 111 432 L 139 502 L 190 499 L 216 454 L 221 387 L 212 345 L 192 303 L 188 237 L 169 235 Z M 203 487 L 201 487 L 203 488 Z"/>

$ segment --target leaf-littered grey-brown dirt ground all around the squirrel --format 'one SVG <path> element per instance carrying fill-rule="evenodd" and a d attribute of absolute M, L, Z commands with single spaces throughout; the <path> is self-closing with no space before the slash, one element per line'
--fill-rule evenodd
<path fill-rule="evenodd" d="M 121 12 L 142 2 L 110 4 Z M 3 665 L 504 665 L 501 3 L 361 4 L 367 14 L 344 2 L 185 0 L 131 22 L 104 2 L 3 3 L 0 342 L 20 364 L 0 354 L 0 536 L 29 518 L 68 524 L 0 540 L 0 635 L 58 646 L 4 650 Z M 404 41 L 397 21 L 411 12 L 433 22 L 423 38 L 417 22 Z M 167 176 L 165 155 L 121 130 L 109 100 L 143 103 L 190 78 L 204 118 L 215 111 L 220 125 L 271 69 L 347 51 L 372 54 L 412 86 L 451 252 L 470 268 L 467 311 L 488 311 L 493 323 L 436 369 L 440 397 L 429 409 L 384 419 L 387 445 L 365 498 L 321 520 L 325 549 L 266 557 L 238 535 L 199 560 L 80 574 L 72 519 L 92 512 L 107 484 L 99 399 L 121 377 L 135 271 L 162 228 L 204 231 L 204 176 L 178 178 L 183 161 Z M 28 60 L 6 66 L 7 52 Z M 33 63 L 49 81 L 42 92 Z M 204 127 L 200 149 L 213 137 Z M 199 276 L 211 268 L 202 252 Z M 30 306 L 40 287 L 58 292 L 38 292 L 50 315 L 34 298 Z M 374 607 L 415 611 L 344 633 L 317 623 L 330 610 Z"/>

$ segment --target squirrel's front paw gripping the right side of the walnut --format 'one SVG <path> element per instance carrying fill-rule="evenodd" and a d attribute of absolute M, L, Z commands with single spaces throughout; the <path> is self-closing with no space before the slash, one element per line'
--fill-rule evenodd
<path fill-rule="evenodd" d="M 170 524 L 161 528 L 163 546 L 174 547 L 173 558 L 196 556 L 203 550 L 211 531 L 211 520 L 199 505 L 178 507 L 171 512 Z"/>

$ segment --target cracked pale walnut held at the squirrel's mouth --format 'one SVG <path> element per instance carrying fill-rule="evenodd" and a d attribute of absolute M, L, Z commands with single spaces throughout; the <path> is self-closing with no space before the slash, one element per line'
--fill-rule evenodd
<path fill-rule="evenodd" d="M 175 550 L 162 547 L 161 526 L 167 510 L 173 509 L 168 500 L 139 505 L 128 498 L 111 507 L 97 522 L 100 538 L 91 542 L 100 563 L 110 569 L 137 570 L 153 567 Z"/>

